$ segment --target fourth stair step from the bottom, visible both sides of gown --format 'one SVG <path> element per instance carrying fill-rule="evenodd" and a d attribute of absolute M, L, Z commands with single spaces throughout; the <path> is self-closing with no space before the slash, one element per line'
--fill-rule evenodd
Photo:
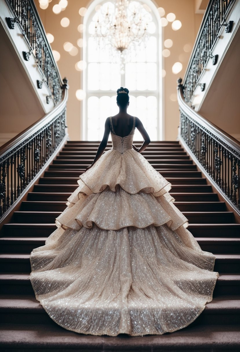
<path fill-rule="evenodd" d="M 238 273 L 240 268 L 240 254 L 215 254 L 214 271 Z M 21 272 L 30 274 L 30 253 L 1 253 L 1 272 Z"/>

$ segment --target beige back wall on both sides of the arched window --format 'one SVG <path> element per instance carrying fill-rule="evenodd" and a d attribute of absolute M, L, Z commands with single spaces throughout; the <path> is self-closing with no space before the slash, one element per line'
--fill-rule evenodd
<path fill-rule="evenodd" d="M 61 58 L 58 61 L 58 67 L 62 77 L 66 76 L 69 80 L 69 101 L 67 105 L 67 121 L 69 126 L 69 135 L 72 140 L 78 140 L 81 136 L 81 102 L 76 99 L 75 92 L 81 89 L 81 73 L 75 70 L 75 63 L 81 59 L 80 49 L 77 56 L 71 56 L 64 51 L 64 42 L 71 42 L 77 46 L 77 39 L 81 38 L 82 34 L 77 31 L 77 26 L 82 23 L 83 18 L 78 14 L 81 7 L 87 7 L 89 2 L 84 0 L 69 0 L 67 8 L 60 14 L 52 12 L 53 5 L 58 3 L 58 0 L 52 0 L 46 10 L 39 8 L 38 0 L 34 0 L 37 6 L 40 18 L 46 32 L 53 34 L 55 37 L 51 44 L 53 50 L 57 50 Z M 177 127 L 179 124 L 179 110 L 176 101 L 177 78 L 183 78 L 185 69 L 188 64 L 190 52 L 184 52 L 183 47 L 189 44 L 194 45 L 198 29 L 201 24 L 202 14 L 195 14 L 194 0 L 157 0 L 157 7 L 163 7 L 165 15 L 169 12 L 176 14 L 176 19 L 182 22 L 182 27 L 178 31 L 173 31 L 171 23 L 163 28 L 163 41 L 172 39 L 173 46 L 170 48 L 171 55 L 163 61 L 166 77 L 164 79 L 164 109 L 165 109 L 165 139 L 174 140 L 177 137 Z M 63 28 L 60 21 L 63 17 L 68 17 L 70 25 Z M 175 62 L 183 64 L 182 71 L 175 75 L 172 73 L 172 65 Z M 116 87 L 117 89 L 118 87 Z M 170 96 L 173 100 L 170 99 Z"/>

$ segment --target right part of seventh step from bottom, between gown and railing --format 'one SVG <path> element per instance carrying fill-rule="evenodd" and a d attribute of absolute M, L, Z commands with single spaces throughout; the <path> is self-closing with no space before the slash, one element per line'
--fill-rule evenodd
<path fill-rule="evenodd" d="M 189 223 L 228 224 L 234 222 L 233 212 L 183 212 Z"/>

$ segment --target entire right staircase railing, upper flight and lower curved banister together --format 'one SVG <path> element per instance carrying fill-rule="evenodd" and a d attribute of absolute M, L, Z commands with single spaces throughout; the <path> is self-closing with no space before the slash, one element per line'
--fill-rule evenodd
<path fill-rule="evenodd" d="M 180 110 L 179 140 L 196 164 L 204 170 L 219 194 L 240 215 L 240 143 L 191 107 L 191 99 L 208 60 L 217 62 L 211 51 L 222 26 L 231 32 L 233 21 L 226 18 L 235 0 L 210 0 L 198 31 L 184 76 L 178 80 Z M 201 87 L 204 90 L 204 87 Z"/>

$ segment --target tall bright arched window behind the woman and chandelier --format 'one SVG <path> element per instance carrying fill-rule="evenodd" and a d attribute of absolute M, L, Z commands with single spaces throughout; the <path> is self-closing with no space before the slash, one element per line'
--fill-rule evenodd
<path fill-rule="evenodd" d="M 130 91 L 128 113 L 137 116 L 145 126 L 152 140 L 163 139 L 162 112 L 162 27 L 156 6 L 150 0 L 138 1 L 152 16 L 150 36 L 146 47 L 140 44 L 138 55 L 131 53 L 131 60 L 121 72 L 120 63 L 113 63 L 108 46 L 99 50 L 91 36 L 96 6 L 107 0 L 93 1 L 84 16 L 83 61 L 87 68 L 83 71 L 83 139 L 101 140 L 104 123 L 108 116 L 118 113 L 116 90 L 127 87 Z M 112 4 L 112 3 L 109 3 Z M 109 9 L 112 8 L 109 6 Z M 134 140 L 141 140 L 136 130 Z"/>

